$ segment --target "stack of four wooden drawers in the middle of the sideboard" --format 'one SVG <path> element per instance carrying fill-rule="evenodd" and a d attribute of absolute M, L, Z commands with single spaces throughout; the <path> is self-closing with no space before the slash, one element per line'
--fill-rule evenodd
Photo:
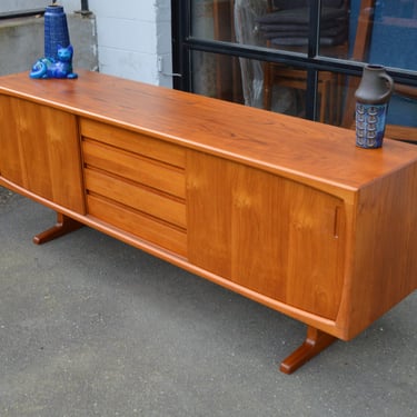
<path fill-rule="evenodd" d="M 186 257 L 185 149 L 89 119 L 80 130 L 88 215 Z"/>

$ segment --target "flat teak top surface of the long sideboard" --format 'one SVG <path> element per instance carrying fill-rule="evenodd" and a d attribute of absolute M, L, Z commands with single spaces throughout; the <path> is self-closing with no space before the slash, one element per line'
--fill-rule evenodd
<path fill-rule="evenodd" d="M 355 131 L 78 70 L 77 80 L 0 77 L 0 92 L 346 191 L 417 161 L 417 147 L 355 146 Z M 321 187 L 320 187 L 321 188 Z"/>

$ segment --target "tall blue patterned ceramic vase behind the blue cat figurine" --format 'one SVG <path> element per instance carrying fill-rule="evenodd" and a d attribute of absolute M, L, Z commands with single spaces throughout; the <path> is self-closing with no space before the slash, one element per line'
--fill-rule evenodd
<path fill-rule="evenodd" d="M 67 16 L 62 6 L 48 6 L 44 11 L 44 57 L 57 59 L 58 46 L 70 44 Z"/>

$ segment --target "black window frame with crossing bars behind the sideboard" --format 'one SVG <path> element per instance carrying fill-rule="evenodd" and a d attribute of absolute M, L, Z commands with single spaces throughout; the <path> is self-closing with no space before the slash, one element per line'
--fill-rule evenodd
<path fill-rule="evenodd" d="M 180 77 L 173 79 L 173 88 L 192 92 L 191 54 L 193 51 L 227 54 L 259 61 L 297 66 L 307 70 L 306 118 L 317 117 L 317 82 L 319 71 L 335 71 L 360 77 L 366 62 L 331 58 L 319 54 L 318 38 L 321 0 L 311 0 L 310 31 L 307 54 L 239 44 L 217 40 L 199 39 L 191 32 L 191 0 L 171 0 L 172 17 L 172 69 Z M 417 87 L 417 70 L 386 67 L 395 82 Z"/>

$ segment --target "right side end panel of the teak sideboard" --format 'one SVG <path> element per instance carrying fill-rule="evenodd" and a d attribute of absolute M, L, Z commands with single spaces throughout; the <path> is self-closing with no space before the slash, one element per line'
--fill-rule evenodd
<path fill-rule="evenodd" d="M 360 190 L 349 338 L 417 289 L 417 163 Z"/>

